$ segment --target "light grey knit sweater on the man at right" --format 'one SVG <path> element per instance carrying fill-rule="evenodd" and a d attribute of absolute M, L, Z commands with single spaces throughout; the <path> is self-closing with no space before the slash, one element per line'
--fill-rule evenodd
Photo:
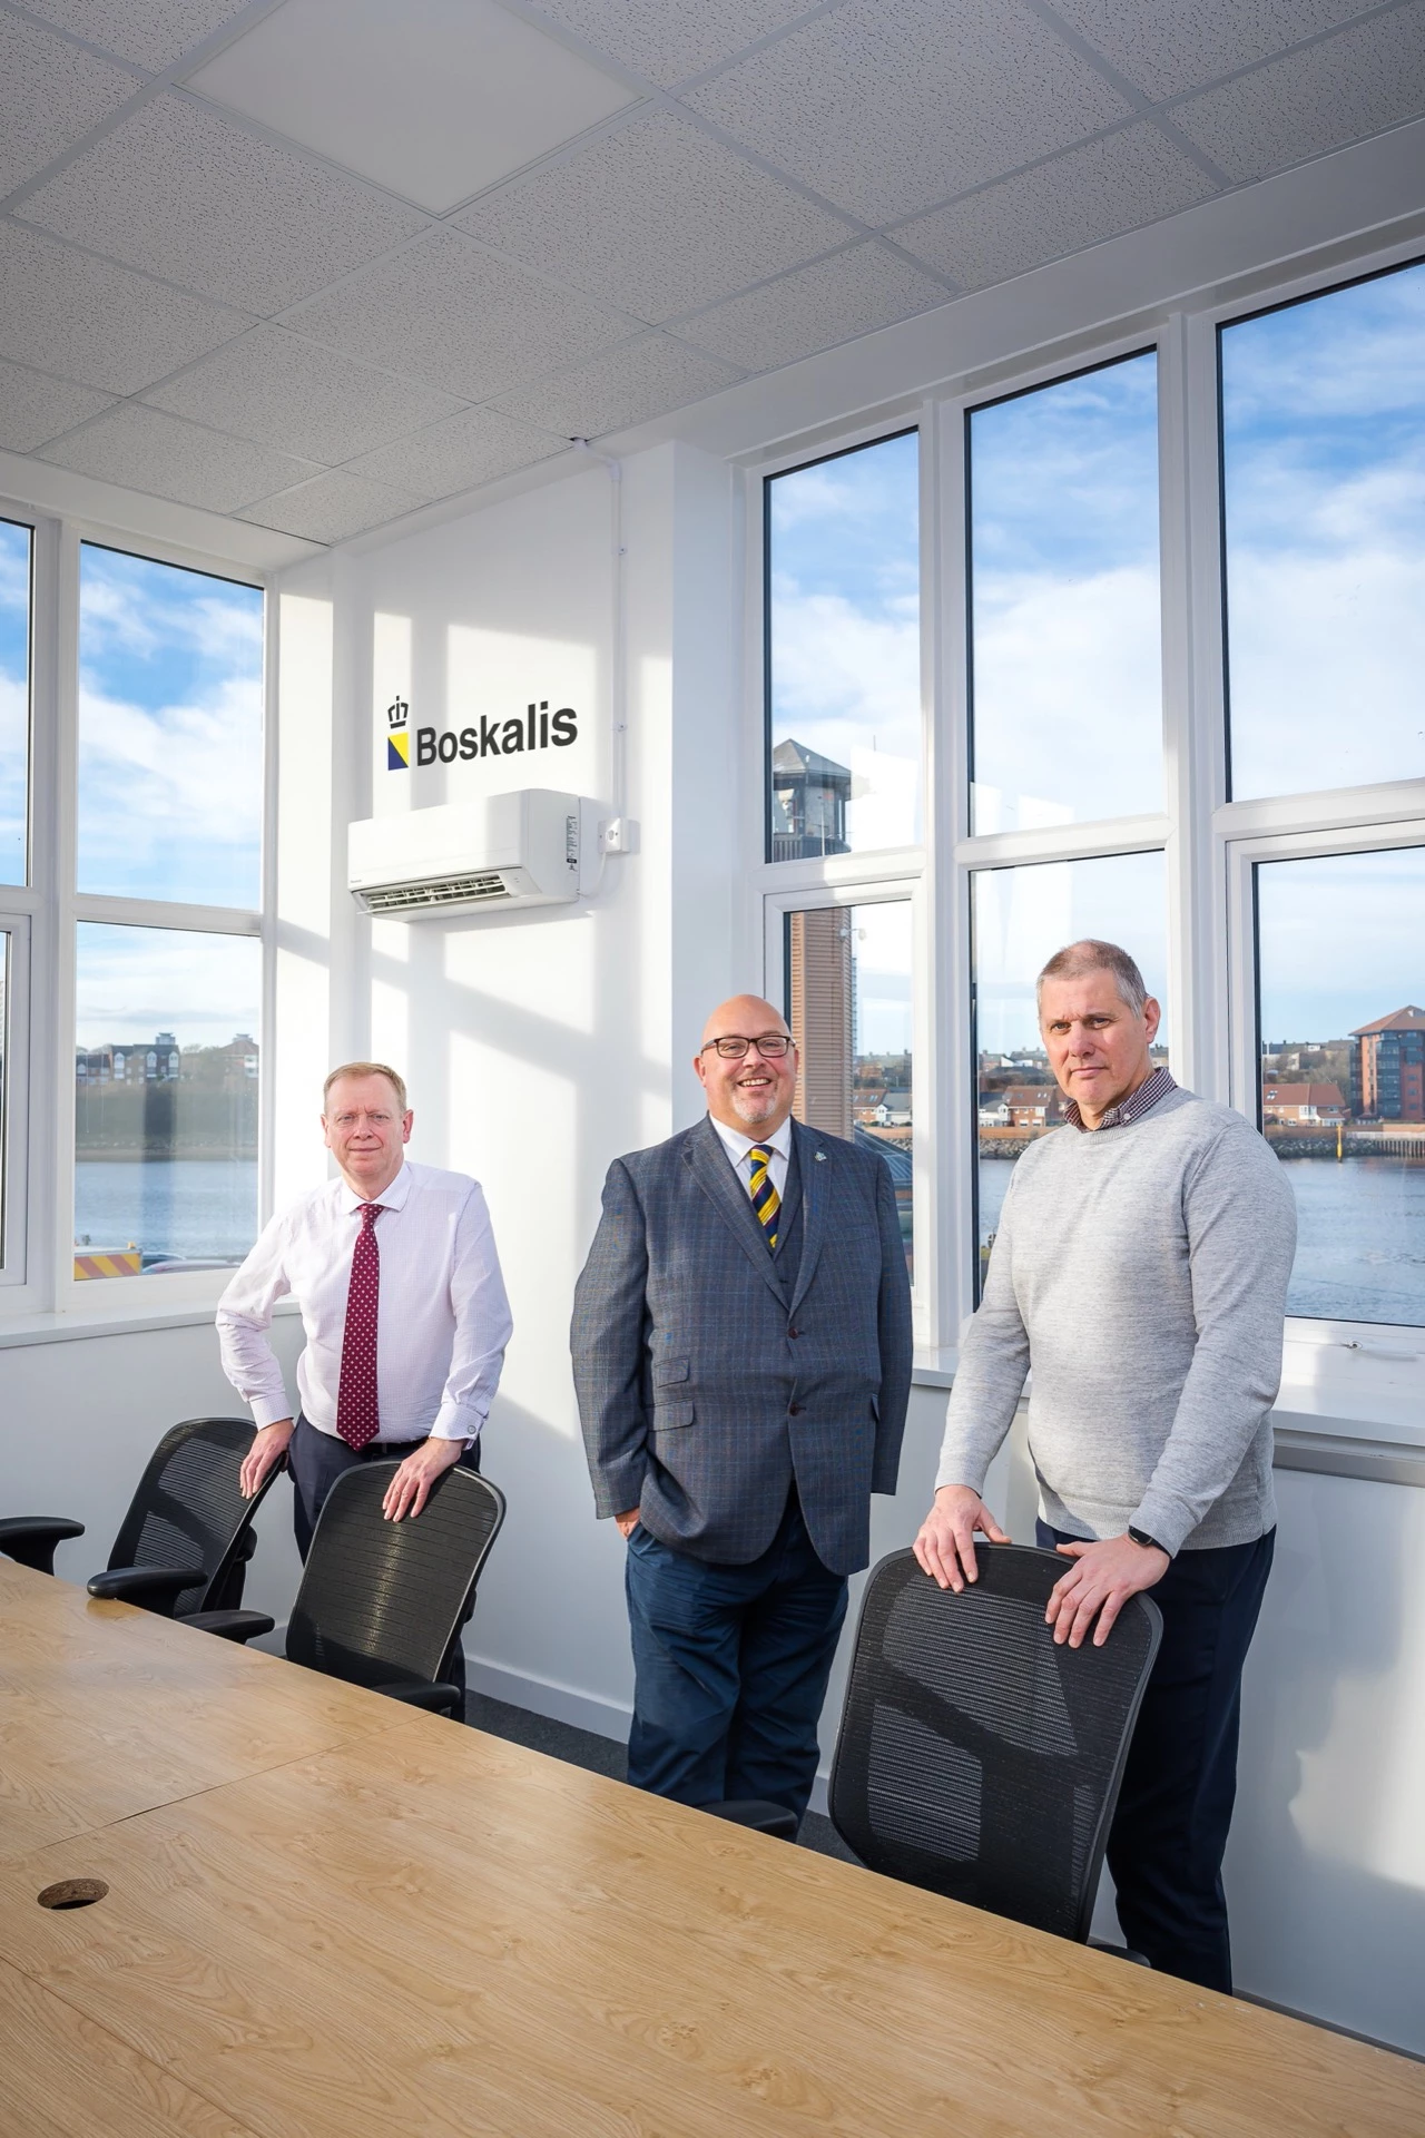
<path fill-rule="evenodd" d="M 1034 1368 L 1030 1452 L 1055 1529 L 1132 1524 L 1169 1552 L 1260 1537 L 1295 1244 L 1263 1137 L 1190 1090 L 1124 1127 L 1045 1135 L 1004 1197 L 936 1484 L 981 1490 Z"/>

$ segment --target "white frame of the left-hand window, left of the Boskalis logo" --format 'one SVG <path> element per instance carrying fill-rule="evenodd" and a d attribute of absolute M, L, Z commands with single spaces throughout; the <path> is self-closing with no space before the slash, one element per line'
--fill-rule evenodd
<path fill-rule="evenodd" d="M 75 928 L 111 921 L 263 943 L 263 1031 L 259 1065 L 259 1210 L 271 1208 L 271 966 L 276 727 L 271 577 L 233 558 L 194 552 L 152 534 L 132 534 L 81 517 L 36 511 L 0 498 L 0 517 L 34 534 L 30 618 L 30 885 L 0 887 L 0 926 L 24 924 L 26 990 L 15 981 L 11 1011 L 6 1268 L 0 1274 L 0 1338 L 6 1323 L 49 1317 L 71 1321 L 152 1321 L 209 1311 L 226 1283 L 222 1270 L 192 1274 L 75 1279 Z M 145 562 L 173 564 L 263 592 L 263 872 L 261 909 L 179 904 L 158 898 L 81 894 L 79 815 L 79 549 L 96 543 Z M 17 1022 L 19 1020 L 19 1022 Z M 17 1033 L 24 1028 L 24 1045 Z"/>

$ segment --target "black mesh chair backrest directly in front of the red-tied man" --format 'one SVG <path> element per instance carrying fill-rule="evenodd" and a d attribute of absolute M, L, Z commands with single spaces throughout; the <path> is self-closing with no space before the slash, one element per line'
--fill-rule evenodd
<path fill-rule="evenodd" d="M 286 1625 L 293 1663 L 355 1685 L 432 1685 L 504 1520 L 504 1494 L 455 1465 L 421 1514 L 387 1522 L 397 1462 L 363 1462 L 331 1486 Z"/>

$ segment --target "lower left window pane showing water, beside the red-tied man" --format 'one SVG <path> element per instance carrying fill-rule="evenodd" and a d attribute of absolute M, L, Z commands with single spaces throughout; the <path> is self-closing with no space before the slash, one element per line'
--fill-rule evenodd
<path fill-rule="evenodd" d="M 75 979 L 75 1276 L 241 1261 L 263 945 L 81 921 Z"/>

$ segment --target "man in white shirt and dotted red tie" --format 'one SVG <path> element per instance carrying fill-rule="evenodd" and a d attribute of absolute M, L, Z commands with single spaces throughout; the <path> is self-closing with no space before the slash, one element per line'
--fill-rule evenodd
<path fill-rule="evenodd" d="M 355 1462 L 400 1458 L 382 1501 L 393 1522 L 419 1516 L 451 1465 L 479 1469 L 500 1383 L 511 1311 L 485 1197 L 466 1174 L 410 1165 L 410 1125 L 395 1069 L 333 1069 L 323 1131 L 340 1178 L 271 1219 L 218 1302 L 222 1370 L 259 1428 L 241 1488 L 256 1492 L 286 1454 L 303 1559 L 327 1492 Z M 297 1417 L 267 1341 L 286 1293 L 308 1338 Z"/>

